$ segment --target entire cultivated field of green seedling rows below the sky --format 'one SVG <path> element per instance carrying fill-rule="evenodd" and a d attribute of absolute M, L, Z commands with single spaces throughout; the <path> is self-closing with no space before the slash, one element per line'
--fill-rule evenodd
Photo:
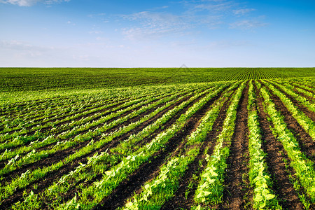
<path fill-rule="evenodd" d="M 0 209 L 315 208 L 314 68 L 0 73 Z"/>

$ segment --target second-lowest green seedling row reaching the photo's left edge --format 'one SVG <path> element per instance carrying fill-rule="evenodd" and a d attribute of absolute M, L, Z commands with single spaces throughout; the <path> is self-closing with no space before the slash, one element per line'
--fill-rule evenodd
<path fill-rule="evenodd" d="M 120 125 L 121 123 L 127 121 L 130 118 L 134 118 L 135 116 L 138 116 L 141 113 L 144 113 L 145 111 L 154 108 L 155 106 L 158 106 L 159 104 L 163 104 L 165 102 L 170 102 L 173 100 L 173 102 L 178 101 L 178 95 L 174 94 L 170 97 L 166 97 L 166 98 L 162 98 L 160 99 L 158 102 L 155 102 L 153 104 L 147 105 L 147 106 L 142 106 L 141 109 L 137 110 L 137 111 L 133 111 L 132 113 L 130 113 L 129 115 L 123 117 L 123 118 L 118 118 L 117 120 L 114 120 L 113 122 L 109 123 L 108 125 L 105 124 L 102 127 L 98 127 L 93 131 L 89 131 L 87 132 L 90 133 L 89 137 L 91 136 L 95 136 L 95 134 L 101 134 L 102 132 L 106 132 L 106 130 L 111 129 L 114 126 Z M 149 100 L 153 100 L 155 99 L 154 97 L 152 99 Z M 140 103 L 142 104 L 142 103 Z M 130 106 L 128 109 L 132 110 L 133 106 Z M 162 106 L 163 108 L 166 108 L 165 106 Z M 113 116 L 120 116 L 121 112 L 117 112 L 117 113 L 113 113 L 113 115 L 110 115 L 111 117 Z M 110 117 L 108 116 L 108 117 Z M 83 127 L 85 128 L 85 127 Z M 74 139 L 69 139 L 69 137 L 73 136 L 74 134 L 78 134 L 79 131 L 82 130 L 81 127 L 76 129 L 76 130 L 71 130 L 72 133 L 71 135 L 68 135 L 64 138 L 60 138 L 59 136 L 56 137 L 51 137 L 50 141 L 48 141 L 50 144 L 51 142 L 57 142 L 57 144 L 55 144 L 55 146 L 53 146 L 52 148 L 48 148 L 46 150 L 42 150 L 36 153 L 34 146 L 36 146 L 36 148 L 39 148 L 38 146 L 43 146 L 41 144 L 31 144 L 29 146 L 26 146 L 27 150 L 29 150 L 30 152 L 27 153 L 26 155 L 24 155 L 24 157 L 20 157 L 20 153 L 17 154 L 17 152 L 20 152 L 22 148 L 12 151 L 11 153 L 7 152 L 4 153 L 4 155 L 10 155 L 14 158 L 11 158 L 10 160 L 8 160 L 8 163 L 6 164 L 5 167 L 3 167 L 2 169 L 0 169 L 0 175 L 3 176 L 5 174 L 8 174 L 9 172 L 12 172 L 15 169 L 18 169 L 19 167 L 21 167 L 22 165 L 27 165 L 33 162 L 36 162 L 38 160 L 41 160 L 42 158 L 47 157 L 48 155 L 52 155 L 54 153 L 56 153 L 57 151 L 62 151 L 65 150 L 67 148 L 71 148 L 73 146 L 76 146 L 79 143 L 82 143 L 83 141 L 85 141 L 84 138 L 80 138 L 83 134 L 79 134 L 78 136 L 74 137 Z M 102 130 L 102 132 L 101 132 Z M 67 139 L 66 141 L 58 141 L 59 139 Z M 48 142 L 45 142 L 45 144 L 47 145 Z M 58 144 L 59 143 L 59 144 Z M 25 147 L 24 147 L 25 148 Z M 4 157 L 4 155 L 1 156 Z M 14 156 L 15 155 L 15 156 Z M 20 157 L 20 158 L 19 158 Z M 18 160 L 19 158 L 19 160 Z"/>

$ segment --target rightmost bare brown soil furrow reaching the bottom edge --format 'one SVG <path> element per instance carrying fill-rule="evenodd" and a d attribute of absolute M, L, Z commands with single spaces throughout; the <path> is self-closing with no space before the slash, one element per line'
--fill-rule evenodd
<path fill-rule="evenodd" d="M 259 96 L 259 90 L 255 87 L 256 96 Z M 284 148 L 280 141 L 278 141 L 274 134 L 272 134 L 272 123 L 267 120 L 267 113 L 265 113 L 262 106 L 263 99 L 258 97 L 258 116 L 260 129 L 262 130 L 262 142 L 263 150 L 267 154 L 266 161 L 268 166 L 268 172 L 271 174 L 274 180 L 274 191 L 278 197 L 279 204 L 283 209 L 304 209 L 303 204 L 294 189 L 293 184 L 290 182 L 288 176 L 294 174 L 291 167 L 286 167 L 290 165 L 290 159 L 284 151 Z"/>

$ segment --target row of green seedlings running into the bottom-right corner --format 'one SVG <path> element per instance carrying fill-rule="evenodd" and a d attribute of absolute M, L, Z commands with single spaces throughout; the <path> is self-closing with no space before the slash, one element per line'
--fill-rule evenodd
<path fill-rule="evenodd" d="M 276 110 L 275 104 L 270 99 L 266 87 L 260 89 L 264 102 L 264 109 L 272 121 L 274 136 L 281 141 L 284 150 L 290 158 L 290 166 L 295 170 L 295 175 L 300 179 L 300 183 L 309 195 L 311 202 L 315 202 L 315 171 L 314 162 L 305 157 L 300 151 L 300 146 L 294 134 L 288 130 L 283 116 Z"/>

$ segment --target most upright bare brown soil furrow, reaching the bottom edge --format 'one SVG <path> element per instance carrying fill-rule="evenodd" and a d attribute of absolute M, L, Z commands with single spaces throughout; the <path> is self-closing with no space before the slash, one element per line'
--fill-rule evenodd
<path fill-rule="evenodd" d="M 244 209 L 249 202 L 244 199 L 248 193 L 249 183 L 245 179 L 249 170 L 247 104 L 248 85 L 243 91 L 237 108 L 235 132 L 230 145 L 230 156 L 226 161 L 228 168 L 225 174 L 224 186 L 226 187 L 223 191 L 223 207 L 221 209 Z"/>

